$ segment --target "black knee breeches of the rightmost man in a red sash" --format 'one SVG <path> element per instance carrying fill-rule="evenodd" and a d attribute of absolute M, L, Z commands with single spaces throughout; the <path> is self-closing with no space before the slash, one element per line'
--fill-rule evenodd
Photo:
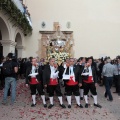
<path fill-rule="evenodd" d="M 84 86 L 84 95 L 88 95 L 89 90 L 93 95 L 97 95 L 95 83 L 83 83 Z"/>

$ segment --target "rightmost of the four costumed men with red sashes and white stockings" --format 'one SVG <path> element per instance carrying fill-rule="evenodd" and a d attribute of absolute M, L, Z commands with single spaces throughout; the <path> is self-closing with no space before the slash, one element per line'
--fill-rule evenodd
<path fill-rule="evenodd" d="M 92 58 L 87 59 L 87 63 L 83 68 L 83 72 L 80 75 L 80 86 L 83 85 L 84 87 L 84 99 L 85 99 L 85 108 L 88 108 L 88 93 L 89 90 L 91 91 L 93 98 L 94 98 L 94 106 L 100 107 L 101 106 L 97 103 L 97 76 L 96 70 L 94 66 L 92 66 Z M 83 84 L 82 84 L 83 83 Z"/>

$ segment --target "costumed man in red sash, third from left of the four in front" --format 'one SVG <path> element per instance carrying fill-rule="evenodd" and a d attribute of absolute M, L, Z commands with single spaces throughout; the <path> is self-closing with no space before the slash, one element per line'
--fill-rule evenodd
<path fill-rule="evenodd" d="M 74 58 L 70 58 L 69 66 L 67 66 L 63 73 L 63 80 L 66 80 L 66 95 L 68 101 L 68 108 L 71 108 L 71 95 L 75 95 L 77 106 L 83 108 L 80 103 L 79 82 L 80 69 L 78 65 L 74 65 Z"/>

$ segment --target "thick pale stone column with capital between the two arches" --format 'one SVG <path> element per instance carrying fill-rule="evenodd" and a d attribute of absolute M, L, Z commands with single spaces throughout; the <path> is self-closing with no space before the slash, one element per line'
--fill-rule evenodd
<path fill-rule="evenodd" d="M 16 42 L 12 40 L 1 40 L 0 41 L 3 46 L 3 56 L 6 57 L 8 53 L 15 53 Z"/>

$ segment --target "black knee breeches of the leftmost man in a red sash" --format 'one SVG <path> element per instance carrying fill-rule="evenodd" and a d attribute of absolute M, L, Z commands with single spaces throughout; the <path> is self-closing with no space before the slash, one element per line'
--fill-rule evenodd
<path fill-rule="evenodd" d="M 36 94 L 36 90 L 38 91 L 39 95 L 44 95 L 42 84 L 30 84 L 31 95 Z"/>

